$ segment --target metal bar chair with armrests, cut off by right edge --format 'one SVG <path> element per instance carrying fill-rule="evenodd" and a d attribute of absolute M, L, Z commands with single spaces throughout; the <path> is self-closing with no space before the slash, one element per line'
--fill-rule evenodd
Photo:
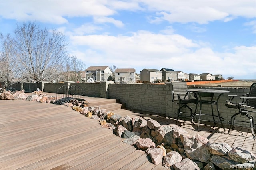
<path fill-rule="evenodd" d="M 254 123 L 254 117 L 250 115 L 249 113 L 256 113 L 256 83 L 253 83 L 250 87 L 250 92 L 246 93 L 242 96 L 237 96 L 237 95 L 228 95 L 229 99 L 226 101 L 226 107 L 228 108 L 234 108 L 238 109 L 238 113 L 234 114 L 231 119 L 230 119 L 230 128 L 228 130 L 228 133 L 230 132 L 231 129 L 234 128 L 234 126 L 237 127 L 248 127 L 252 131 L 252 136 L 255 138 L 256 134 L 256 124 Z M 241 102 L 236 103 L 233 100 L 235 98 L 239 97 Z M 236 120 L 237 115 L 242 115 L 248 118 L 249 120 L 246 121 L 239 121 Z M 248 123 L 250 125 L 236 125 L 236 122 L 244 122 Z"/>

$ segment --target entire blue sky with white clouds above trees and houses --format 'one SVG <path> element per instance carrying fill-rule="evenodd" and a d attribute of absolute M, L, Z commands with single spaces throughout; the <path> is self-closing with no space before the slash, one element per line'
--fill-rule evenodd
<path fill-rule="evenodd" d="M 86 68 L 171 68 L 256 79 L 255 0 L 1 0 L 0 31 L 64 33 Z"/>

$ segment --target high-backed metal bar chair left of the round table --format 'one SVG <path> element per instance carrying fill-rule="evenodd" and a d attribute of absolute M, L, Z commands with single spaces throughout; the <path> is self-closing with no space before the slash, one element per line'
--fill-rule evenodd
<path fill-rule="evenodd" d="M 186 82 L 172 82 L 172 103 L 176 103 L 177 105 L 179 105 L 180 107 L 178 108 L 177 113 L 175 113 L 177 115 L 177 119 L 176 119 L 176 123 L 179 119 L 179 116 L 182 115 L 182 113 L 189 113 L 190 118 L 191 118 L 191 123 L 194 124 L 194 113 L 196 113 L 196 109 L 197 109 L 197 104 L 198 104 L 198 99 L 197 96 L 192 93 L 189 93 L 187 91 L 188 87 L 187 87 L 187 83 Z M 192 112 L 192 108 L 190 106 L 188 106 L 188 104 L 190 103 L 194 103 L 196 104 L 196 109 L 195 112 Z M 182 112 L 181 109 L 183 107 L 187 107 L 190 112 Z M 183 116 L 183 117 L 188 117 L 188 115 Z"/>

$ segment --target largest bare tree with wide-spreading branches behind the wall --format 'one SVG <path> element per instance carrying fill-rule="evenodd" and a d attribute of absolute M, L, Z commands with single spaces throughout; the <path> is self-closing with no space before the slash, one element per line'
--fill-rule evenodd
<path fill-rule="evenodd" d="M 64 35 L 42 29 L 35 22 L 17 24 L 15 34 L 22 78 L 28 82 L 58 80 L 68 57 Z"/>

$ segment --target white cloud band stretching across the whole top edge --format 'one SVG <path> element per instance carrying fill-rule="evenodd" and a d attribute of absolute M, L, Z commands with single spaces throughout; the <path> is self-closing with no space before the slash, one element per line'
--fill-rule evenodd
<path fill-rule="evenodd" d="M 37 20 L 54 24 L 68 23 L 73 17 L 109 17 L 120 10 L 154 12 L 152 22 L 197 22 L 206 24 L 214 20 L 230 21 L 237 16 L 256 17 L 254 0 L 2 0 L 1 16 L 7 19 Z M 161 14 L 161 16 L 158 16 Z M 116 26 L 121 21 L 108 19 Z"/>

